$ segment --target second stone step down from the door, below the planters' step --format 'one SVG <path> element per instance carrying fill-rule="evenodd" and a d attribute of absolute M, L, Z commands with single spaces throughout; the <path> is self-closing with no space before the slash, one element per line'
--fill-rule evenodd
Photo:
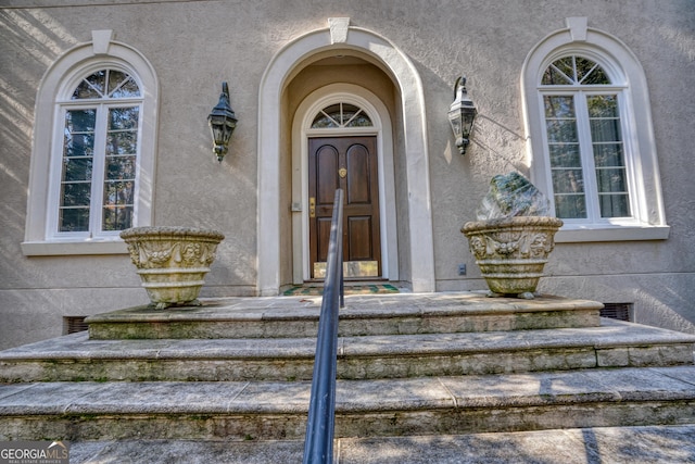
<path fill-rule="evenodd" d="M 693 363 L 693 335 L 602 321 L 586 328 L 340 337 L 338 377 Z M 308 337 L 93 340 L 81 333 L 0 352 L 0 381 L 307 380 L 315 349 Z"/>

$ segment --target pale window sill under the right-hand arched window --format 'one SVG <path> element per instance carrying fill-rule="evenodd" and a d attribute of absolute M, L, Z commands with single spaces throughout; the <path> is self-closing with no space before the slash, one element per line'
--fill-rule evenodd
<path fill-rule="evenodd" d="M 666 240 L 670 230 L 669 226 L 564 226 L 555 235 L 555 242 Z"/>

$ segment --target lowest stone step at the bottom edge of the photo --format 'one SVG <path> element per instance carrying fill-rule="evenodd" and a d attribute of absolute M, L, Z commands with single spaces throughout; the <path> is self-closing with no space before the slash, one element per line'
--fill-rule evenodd
<path fill-rule="evenodd" d="M 301 440 L 124 440 L 71 443 L 72 464 L 277 464 L 302 462 Z M 692 463 L 695 425 L 339 438 L 336 464 Z"/>

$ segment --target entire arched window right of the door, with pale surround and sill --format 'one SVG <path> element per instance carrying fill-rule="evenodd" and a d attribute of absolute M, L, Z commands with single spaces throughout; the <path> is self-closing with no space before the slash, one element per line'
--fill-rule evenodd
<path fill-rule="evenodd" d="M 531 179 L 565 223 L 556 239 L 665 239 L 644 71 L 586 18 L 567 24 L 529 53 L 521 81 Z"/>

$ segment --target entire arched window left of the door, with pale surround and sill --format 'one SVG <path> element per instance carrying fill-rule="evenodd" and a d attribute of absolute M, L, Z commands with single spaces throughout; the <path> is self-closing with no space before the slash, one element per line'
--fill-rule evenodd
<path fill-rule="evenodd" d="M 119 231 L 152 223 L 157 78 L 112 37 L 92 32 L 39 86 L 26 255 L 127 253 Z"/>

